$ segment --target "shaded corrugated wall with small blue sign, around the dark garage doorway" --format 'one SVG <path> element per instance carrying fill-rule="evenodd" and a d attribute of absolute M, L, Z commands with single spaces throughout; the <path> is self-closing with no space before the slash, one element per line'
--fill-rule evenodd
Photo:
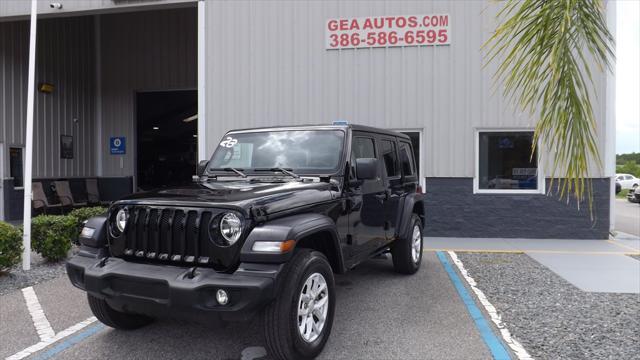
<path fill-rule="evenodd" d="M 137 91 L 196 89 L 196 8 L 101 15 L 103 176 L 135 169 Z M 126 155 L 109 154 L 125 136 Z"/>

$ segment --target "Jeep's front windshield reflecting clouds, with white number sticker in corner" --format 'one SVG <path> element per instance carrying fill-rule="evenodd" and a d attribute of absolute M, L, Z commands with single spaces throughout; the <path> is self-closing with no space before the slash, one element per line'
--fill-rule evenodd
<path fill-rule="evenodd" d="M 340 167 L 343 143 L 341 130 L 228 134 L 218 144 L 207 171 L 284 168 L 299 174 L 333 173 Z"/>

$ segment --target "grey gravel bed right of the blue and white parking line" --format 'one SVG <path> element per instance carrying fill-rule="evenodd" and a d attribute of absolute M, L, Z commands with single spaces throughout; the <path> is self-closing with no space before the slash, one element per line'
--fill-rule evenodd
<path fill-rule="evenodd" d="M 534 358 L 640 359 L 640 295 L 582 291 L 525 254 L 458 257 Z"/>

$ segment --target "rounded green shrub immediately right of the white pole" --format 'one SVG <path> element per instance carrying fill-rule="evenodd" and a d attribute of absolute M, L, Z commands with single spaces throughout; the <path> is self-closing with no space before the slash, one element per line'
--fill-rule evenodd
<path fill-rule="evenodd" d="M 41 215 L 31 222 L 33 249 L 49 261 L 67 257 L 71 242 L 77 238 L 78 223 L 68 215 Z"/>

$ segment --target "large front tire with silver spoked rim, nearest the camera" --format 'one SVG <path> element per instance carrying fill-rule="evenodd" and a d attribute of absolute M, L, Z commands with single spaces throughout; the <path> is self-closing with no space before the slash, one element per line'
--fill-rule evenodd
<path fill-rule="evenodd" d="M 318 284 L 322 287 L 322 280 L 326 288 L 319 291 L 314 301 L 305 301 L 303 295 L 310 290 L 309 284 L 312 288 Z M 312 289 L 314 290 L 318 288 Z M 265 308 L 263 314 L 264 334 L 269 353 L 280 360 L 315 358 L 322 352 L 329 339 L 335 310 L 335 285 L 327 258 L 321 252 L 310 249 L 296 251 L 283 270 L 276 291 L 276 299 Z M 318 300 L 324 298 L 327 299 L 324 305 L 318 305 Z M 299 311 L 306 311 L 307 306 L 318 308 L 313 310 L 312 315 L 308 315 L 310 311 L 307 315 L 300 315 Z M 316 314 L 325 316 L 323 324 L 320 324 L 320 317 Z M 306 321 L 309 321 L 309 316 L 314 323 L 317 320 L 319 333 L 306 331 L 311 327 L 304 327 L 304 330 L 299 328 L 299 321 L 301 320 L 302 326 L 305 326 L 304 319 L 306 317 Z"/>

